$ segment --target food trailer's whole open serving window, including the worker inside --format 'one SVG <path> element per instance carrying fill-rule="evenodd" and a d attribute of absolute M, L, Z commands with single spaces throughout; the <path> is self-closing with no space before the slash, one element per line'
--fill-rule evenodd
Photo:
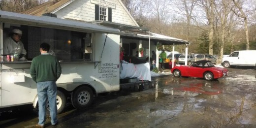
<path fill-rule="evenodd" d="M 16 61 L 32 61 L 40 55 L 39 45 L 47 42 L 51 46 L 49 53 L 60 61 L 93 61 L 92 33 L 10 23 L 2 25 L 2 54 L 6 59 L 7 55 L 16 55 Z"/>

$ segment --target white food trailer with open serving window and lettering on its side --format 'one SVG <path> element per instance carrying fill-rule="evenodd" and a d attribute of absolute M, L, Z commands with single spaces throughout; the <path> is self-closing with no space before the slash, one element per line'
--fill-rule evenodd
<path fill-rule="evenodd" d="M 36 83 L 30 75 L 32 58 L 39 45 L 51 45 L 50 54 L 58 57 L 62 74 L 57 81 L 58 113 L 70 101 L 75 108 L 89 106 L 99 93 L 119 91 L 121 85 L 142 88 L 151 79 L 120 84 L 120 34 L 117 29 L 48 16 L 31 16 L 0 11 L 0 53 L 3 41 L 13 29 L 23 31 L 22 41 L 28 61 L 0 62 L 0 110 L 37 105 Z M 149 69 L 149 64 L 139 65 Z M 143 74 L 145 74 L 145 71 Z M 146 74 L 148 74 L 146 72 Z M 141 76 L 140 76 L 141 77 Z"/>

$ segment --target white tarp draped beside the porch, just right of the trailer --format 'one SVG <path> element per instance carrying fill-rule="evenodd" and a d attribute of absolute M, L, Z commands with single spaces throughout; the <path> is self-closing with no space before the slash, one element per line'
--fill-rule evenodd
<path fill-rule="evenodd" d="M 122 64 L 120 79 L 137 78 L 138 80 L 151 81 L 150 65 L 144 64 Z"/>

